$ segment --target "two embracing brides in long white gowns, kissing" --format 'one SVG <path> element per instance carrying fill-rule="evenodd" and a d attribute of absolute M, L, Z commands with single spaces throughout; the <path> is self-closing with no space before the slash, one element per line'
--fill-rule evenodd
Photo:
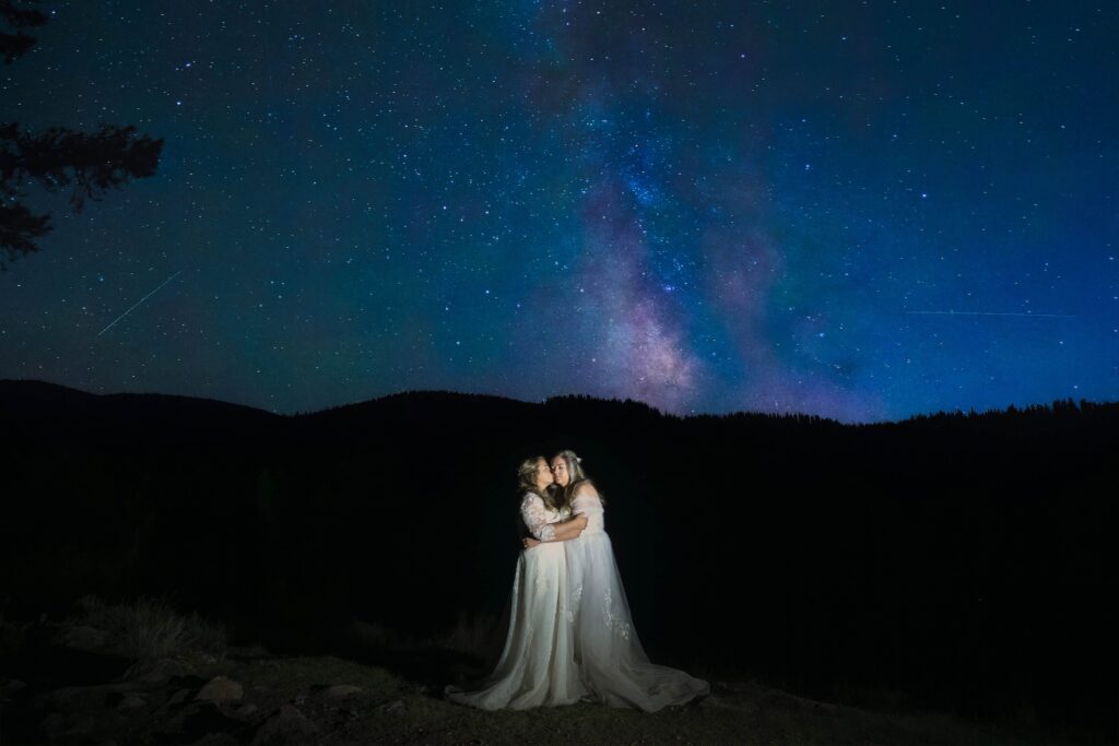
<path fill-rule="evenodd" d="M 706 681 L 655 665 L 638 641 L 605 530 L 604 501 L 573 451 L 517 472 L 527 532 L 509 633 L 493 672 L 452 701 L 487 710 L 596 701 L 653 712 L 707 695 Z"/>

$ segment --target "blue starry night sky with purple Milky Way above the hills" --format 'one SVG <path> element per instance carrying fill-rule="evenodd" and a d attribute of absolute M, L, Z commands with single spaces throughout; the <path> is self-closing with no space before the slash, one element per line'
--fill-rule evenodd
<path fill-rule="evenodd" d="M 281 413 L 1119 399 L 1117 3 L 40 9 L 0 121 L 164 147 L 77 215 L 31 190 L 55 229 L 0 273 L 0 378 Z"/>

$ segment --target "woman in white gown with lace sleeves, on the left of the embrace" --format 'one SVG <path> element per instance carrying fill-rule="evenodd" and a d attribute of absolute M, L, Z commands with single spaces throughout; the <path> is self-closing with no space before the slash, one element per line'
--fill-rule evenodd
<path fill-rule="evenodd" d="M 571 509 L 553 501 L 543 456 L 525 461 L 518 478 L 520 517 L 539 546 L 517 560 L 505 649 L 493 672 L 471 691 L 446 688 L 448 699 L 486 710 L 571 705 L 587 693 L 575 667 L 564 546 L 587 518 L 571 519 Z"/>

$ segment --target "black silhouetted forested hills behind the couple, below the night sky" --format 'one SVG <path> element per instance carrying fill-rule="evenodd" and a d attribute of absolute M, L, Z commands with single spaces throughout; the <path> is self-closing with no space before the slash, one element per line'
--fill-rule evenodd
<path fill-rule="evenodd" d="M 1115 738 L 1119 404 L 844 425 L 407 393 L 313 414 L 0 383 L 12 611 L 172 593 L 288 650 L 501 608 L 515 470 L 608 500 L 653 660 Z"/>

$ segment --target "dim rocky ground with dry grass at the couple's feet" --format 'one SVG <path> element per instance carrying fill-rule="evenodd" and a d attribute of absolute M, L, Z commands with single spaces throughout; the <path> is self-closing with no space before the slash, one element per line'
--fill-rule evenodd
<path fill-rule="evenodd" d="M 26 630 L 25 630 L 26 631 Z M 941 715 L 812 701 L 752 681 L 657 714 L 580 703 L 483 712 L 384 668 L 263 648 L 135 661 L 87 625 L 40 625 L 0 669 L 0 744 L 1028 743 Z"/>

